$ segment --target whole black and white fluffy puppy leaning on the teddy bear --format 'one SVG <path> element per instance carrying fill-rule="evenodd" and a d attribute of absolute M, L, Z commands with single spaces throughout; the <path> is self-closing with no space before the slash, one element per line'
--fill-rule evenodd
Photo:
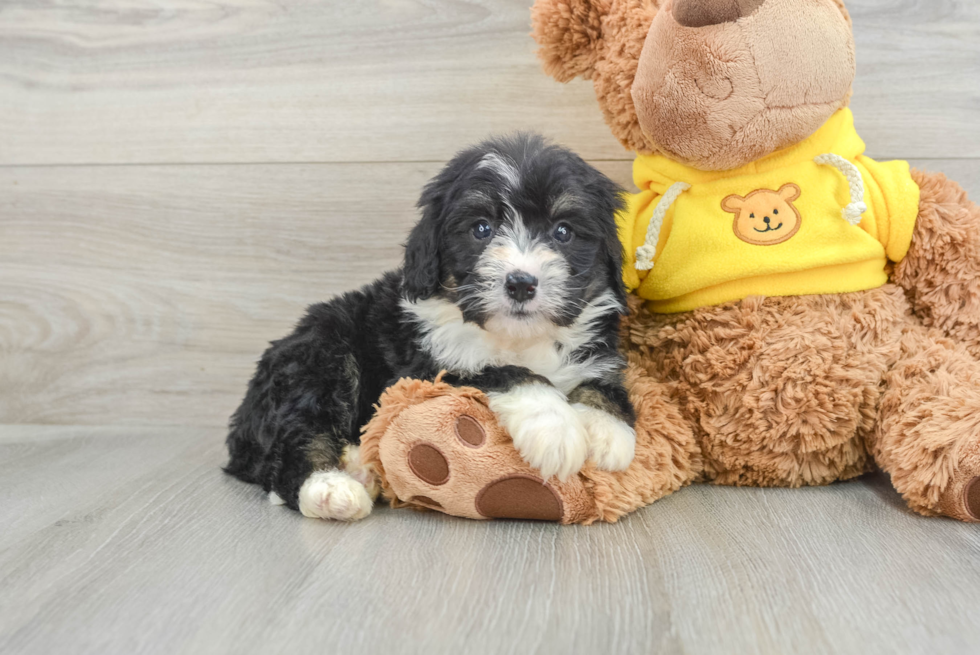
<path fill-rule="evenodd" d="M 313 305 L 262 356 L 231 419 L 226 470 L 311 517 L 371 511 L 359 429 L 385 387 L 444 378 L 487 392 L 522 457 L 567 478 L 633 459 L 617 351 L 620 189 L 537 136 L 458 154 L 422 193 L 404 267 Z"/>

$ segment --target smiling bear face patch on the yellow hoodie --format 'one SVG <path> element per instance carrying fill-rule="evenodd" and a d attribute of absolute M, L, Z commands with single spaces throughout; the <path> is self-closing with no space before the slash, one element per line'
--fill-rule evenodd
<path fill-rule="evenodd" d="M 793 206 L 803 192 L 795 184 L 784 184 L 779 191 L 759 189 L 742 197 L 731 195 L 721 208 L 735 214 L 735 236 L 755 246 L 774 246 L 789 241 L 799 232 L 803 218 Z"/>

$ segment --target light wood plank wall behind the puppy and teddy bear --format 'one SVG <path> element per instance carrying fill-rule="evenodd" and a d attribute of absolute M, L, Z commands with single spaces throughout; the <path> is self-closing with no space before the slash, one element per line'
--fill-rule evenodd
<path fill-rule="evenodd" d="M 529 5 L 0 3 L 0 424 L 222 425 L 265 343 L 395 266 L 421 185 L 490 133 L 629 184 Z M 869 154 L 980 198 L 980 2 L 848 5 Z"/>

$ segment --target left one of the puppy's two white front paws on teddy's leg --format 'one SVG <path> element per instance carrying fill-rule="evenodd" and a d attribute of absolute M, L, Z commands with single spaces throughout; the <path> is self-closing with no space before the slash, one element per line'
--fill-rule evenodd
<path fill-rule="evenodd" d="M 565 395 L 544 384 L 525 384 L 491 393 L 490 409 L 510 433 L 514 447 L 545 479 L 565 480 L 585 464 L 585 428 Z"/>

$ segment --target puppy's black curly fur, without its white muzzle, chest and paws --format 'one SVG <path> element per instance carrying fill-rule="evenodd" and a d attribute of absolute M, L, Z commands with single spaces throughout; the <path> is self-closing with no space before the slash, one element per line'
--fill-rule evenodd
<path fill-rule="evenodd" d="M 458 308 L 462 322 L 483 330 L 502 329 L 494 319 L 507 314 L 517 332 L 533 321 L 575 326 L 592 307 L 581 342 L 554 345 L 573 348 L 562 361 L 583 371 L 565 391 L 632 424 L 617 352 L 625 307 L 614 223 L 621 202 L 608 178 L 537 136 L 489 140 L 458 154 L 422 193 L 422 217 L 409 236 L 404 267 L 311 306 L 292 334 L 266 350 L 231 418 L 225 470 L 297 509 L 306 478 L 338 467 L 382 391 L 401 377 L 433 379 L 448 369 L 447 381 L 485 391 L 550 384 L 546 375 L 515 363 L 488 361 L 477 370 L 434 353 L 437 337 L 413 310 L 420 302 Z M 561 267 L 555 278 L 561 284 L 553 284 L 539 305 L 533 298 L 512 301 L 503 282 L 486 273 L 495 241 L 485 230 L 513 234 L 515 221 L 521 238 Z M 565 230 L 560 242 L 556 225 Z"/>

